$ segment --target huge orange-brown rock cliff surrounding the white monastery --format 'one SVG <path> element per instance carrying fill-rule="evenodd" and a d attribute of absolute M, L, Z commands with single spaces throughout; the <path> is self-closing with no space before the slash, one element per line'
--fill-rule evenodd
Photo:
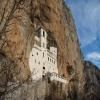
<path fill-rule="evenodd" d="M 30 81 L 29 54 L 39 27 L 43 27 L 56 41 L 59 74 L 64 74 L 70 80 L 69 84 Z M 83 90 L 80 83 L 84 79 L 81 56 L 74 21 L 63 0 L 0 0 L 0 70 L 5 68 L 0 75 L 2 99 L 80 98 L 78 94 Z M 69 66 L 74 70 L 73 77 Z"/>

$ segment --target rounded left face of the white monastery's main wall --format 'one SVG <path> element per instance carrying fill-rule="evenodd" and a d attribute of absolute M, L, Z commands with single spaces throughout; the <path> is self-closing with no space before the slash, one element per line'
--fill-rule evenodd
<path fill-rule="evenodd" d="M 40 77 L 42 77 L 42 65 L 43 65 L 43 61 L 41 60 L 42 53 L 41 53 L 41 48 L 39 47 L 37 48 L 32 49 L 29 57 L 29 66 L 33 80 L 38 80 Z"/>

